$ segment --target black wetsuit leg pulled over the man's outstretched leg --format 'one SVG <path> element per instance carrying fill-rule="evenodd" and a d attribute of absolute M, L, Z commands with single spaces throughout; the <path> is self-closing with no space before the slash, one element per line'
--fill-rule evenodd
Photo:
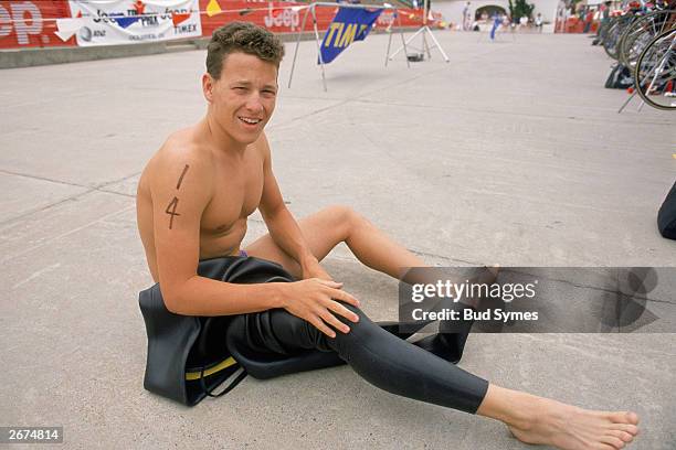
<path fill-rule="evenodd" d="M 373 323 L 361 310 L 350 332 L 328 338 L 314 325 L 283 309 L 245 314 L 246 340 L 279 354 L 316 349 L 337 352 L 340 358 L 372 385 L 392 394 L 475 414 L 488 382 L 448 363 Z"/>

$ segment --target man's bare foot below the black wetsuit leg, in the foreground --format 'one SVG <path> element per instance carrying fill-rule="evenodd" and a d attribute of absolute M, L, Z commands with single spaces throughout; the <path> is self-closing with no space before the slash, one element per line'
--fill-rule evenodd
<path fill-rule="evenodd" d="M 593 411 L 547 398 L 531 399 L 530 424 L 508 425 L 527 443 L 545 443 L 564 450 L 615 450 L 638 433 L 634 413 Z"/>

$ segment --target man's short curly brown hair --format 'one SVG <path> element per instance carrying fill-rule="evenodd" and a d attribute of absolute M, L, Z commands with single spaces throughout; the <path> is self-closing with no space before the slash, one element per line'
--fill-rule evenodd
<path fill-rule="evenodd" d="M 207 46 L 207 72 L 219 79 L 225 57 L 234 52 L 257 56 L 279 68 L 284 45 L 262 26 L 250 22 L 231 22 L 218 28 L 211 35 Z"/>

